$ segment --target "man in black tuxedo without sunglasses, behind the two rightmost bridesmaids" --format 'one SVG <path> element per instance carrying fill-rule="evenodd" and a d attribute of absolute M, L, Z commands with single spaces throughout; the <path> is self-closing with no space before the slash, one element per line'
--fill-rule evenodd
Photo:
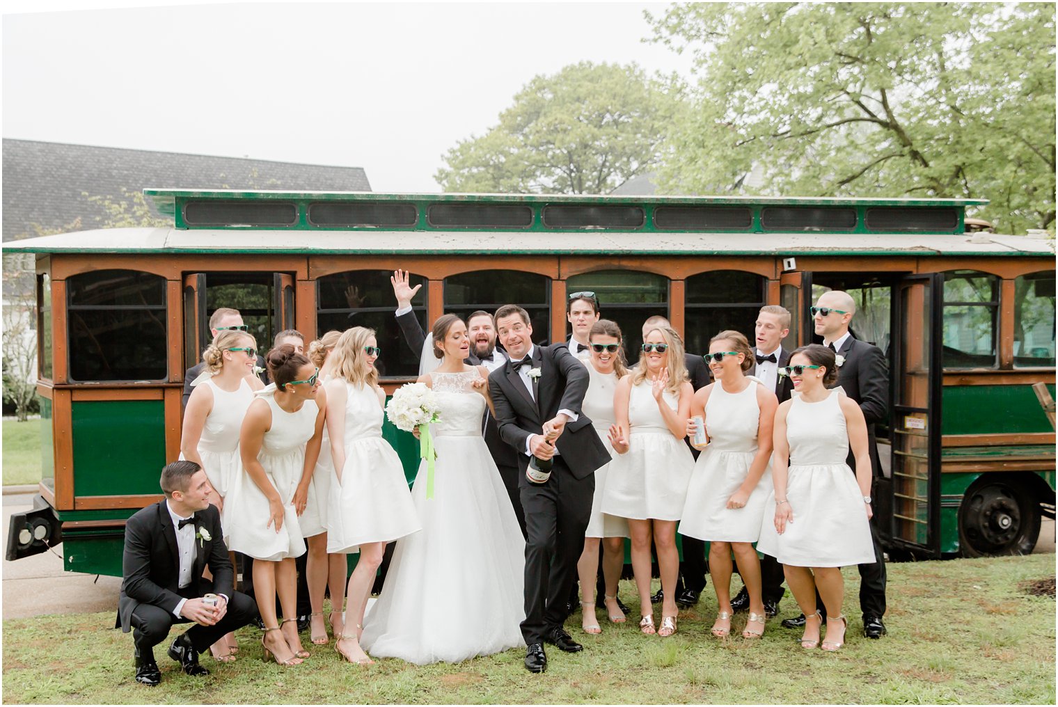
<path fill-rule="evenodd" d="M 790 313 L 779 305 L 765 305 L 756 315 L 753 336 L 756 341 L 756 368 L 753 375 L 760 378 L 765 387 L 774 391 L 779 402 L 790 399 L 794 383 L 787 376 L 780 376 L 779 369 L 789 365 L 790 352 L 783 348 L 783 339 L 790 332 Z M 761 559 L 761 583 L 764 599 L 764 613 L 769 617 L 779 613 L 779 600 L 783 598 L 783 566 L 768 555 Z M 735 612 L 749 610 L 749 594 L 742 587 L 734 599 L 731 609 Z"/>

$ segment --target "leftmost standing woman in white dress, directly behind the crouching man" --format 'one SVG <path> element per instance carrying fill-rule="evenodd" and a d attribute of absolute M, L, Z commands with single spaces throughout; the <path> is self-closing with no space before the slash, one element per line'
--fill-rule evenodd
<path fill-rule="evenodd" d="M 224 496 L 232 477 L 241 473 L 239 465 L 239 428 L 254 399 L 254 391 L 264 387 L 254 375 L 257 343 L 245 331 L 220 331 L 205 351 L 205 370 L 191 382 L 194 386 L 184 411 L 180 435 L 180 458 L 202 467 L 213 491 L 209 503 L 217 506 L 224 520 Z M 226 527 L 226 522 L 223 524 Z M 226 534 L 226 532 L 225 532 Z M 230 552 L 232 566 L 235 554 Z M 239 643 L 230 633 L 209 647 L 213 657 L 231 663 Z"/>

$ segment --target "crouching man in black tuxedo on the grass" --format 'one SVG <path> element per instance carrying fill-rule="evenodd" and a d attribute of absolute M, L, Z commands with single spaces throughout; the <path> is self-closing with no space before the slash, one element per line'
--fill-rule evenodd
<path fill-rule="evenodd" d="M 122 590 L 114 628 L 132 631 L 135 679 L 158 685 L 162 673 L 154 646 L 174 623 L 194 622 L 169 646 L 168 654 L 188 675 L 207 675 L 198 654 L 257 615 L 254 600 L 234 590 L 235 574 L 221 539 L 220 513 L 209 505 L 209 482 L 194 461 L 162 470 L 165 498 L 125 524 Z M 202 578 L 208 566 L 213 580 Z M 203 595 L 217 595 L 217 605 Z"/>

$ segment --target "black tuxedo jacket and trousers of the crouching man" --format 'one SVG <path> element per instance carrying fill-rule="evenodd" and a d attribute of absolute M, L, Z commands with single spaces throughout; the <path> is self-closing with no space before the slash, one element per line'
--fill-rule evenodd
<path fill-rule="evenodd" d="M 174 623 L 189 619 L 172 612 L 181 599 L 193 599 L 213 592 L 227 596 L 227 613 L 215 626 L 195 624 L 187 632 L 195 649 L 201 653 L 221 636 L 250 623 L 257 615 L 253 599 L 236 592 L 235 573 L 227 559 L 227 548 L 221 539 L 220 513 L 208 506 L 195 514 L 196 534 L 205 529 L 209 540 L 196 540 L 196 558 L 191 581 L 178 586 L 180 555 L 172 518 L 163 498 L 138 511 L 125 523 L 125 550 L 122 556 L 122 588 L 117 599 L 121 628 L 132 637 L 138 651 L 147 651 L 165 640 Z M 208 566 L 213 581 L 202 578 Z"/>

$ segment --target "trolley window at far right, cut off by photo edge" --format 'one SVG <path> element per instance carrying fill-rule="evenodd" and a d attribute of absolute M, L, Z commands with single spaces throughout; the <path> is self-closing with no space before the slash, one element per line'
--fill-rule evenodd
<path fill-rule="evenodd" d="M 1014 365 L 1055 365 L 1055 272 L 1014 280 Z"/>

